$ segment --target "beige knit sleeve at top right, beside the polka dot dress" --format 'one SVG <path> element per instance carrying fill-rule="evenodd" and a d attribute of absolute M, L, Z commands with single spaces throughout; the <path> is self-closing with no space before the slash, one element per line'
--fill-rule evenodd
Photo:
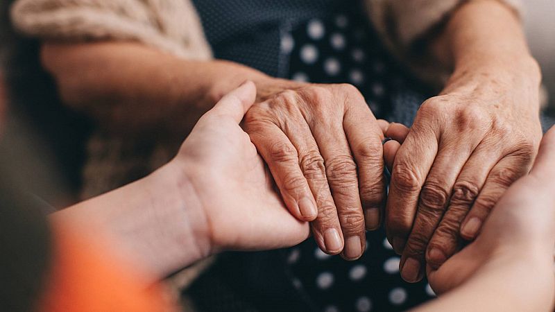
<path fill-rule="evenodd" d="M 411 55 L 414 42 L 424 38 L 438 24 L 456 10 L 462 3 L 469 0 L 365 0 L 370 20 L 393 54 L 409 62 L 415 63 L 415 55 Z M 521 0 L 499 0 L 522 16 Z M 427 68 L 419 71 L 422 78 L 436 85 L 445 80 L 447 73 Z"/>

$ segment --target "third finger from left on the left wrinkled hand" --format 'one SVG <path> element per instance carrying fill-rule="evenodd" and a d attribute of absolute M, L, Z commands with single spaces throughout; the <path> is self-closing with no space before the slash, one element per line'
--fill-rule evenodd
<path fill-rule="evenodd" d="M 345 116 L 345 119 L 347 118 Z M 312 121 L 311 130 L 324 159 L 327 183 L 332 191 L 341 232 L 345 238 L 342 256 L 348 260 L 358 259 L 366 245 L 366 231 L 361 196 L 359 196 L 357 164 L 352 157 L 342 120 L 330 118 L 330 116 L 327 118 L 318 116 Z M 382 130 L 376 126 L 373 131 L 378 133 L 374 136 L 375 140 L 380 143 L 381 140 L 377 136 L 382 133 Z M 369 133 L 368 136 L 373 135 L 374 132 Z M 351 133 L 351 135 L 358 134 Z M 361 138 L 357 137 L 357 139 Z M 368 140 L 356 143 L 368 144 Z M 368 146 L 368 148 L 371 149 L 373 146 Z M 379 148 L 381 149 L 381 144 Z M 381 158 L 381 153 L 379 155 Z"/>

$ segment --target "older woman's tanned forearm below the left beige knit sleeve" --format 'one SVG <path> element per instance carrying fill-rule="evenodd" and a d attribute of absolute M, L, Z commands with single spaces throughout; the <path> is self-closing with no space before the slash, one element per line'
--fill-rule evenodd
<path fill-rule="evenodd" d="M 224 61 L 183 60 L 142 44 L 44 44 L 42 63 L 62 99 L 121 132 L 185 135 L 219 96 L 266 77 Z"/>

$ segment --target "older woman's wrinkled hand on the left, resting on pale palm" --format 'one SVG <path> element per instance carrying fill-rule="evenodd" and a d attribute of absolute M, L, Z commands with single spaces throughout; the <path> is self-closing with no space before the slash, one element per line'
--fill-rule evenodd
<path fill-rule="evenodd" d="M 352 85 L 271 79 L 244 128 L 285 205 L 328 254 L 357 259 L 384 202 L 382 129 Z"/>

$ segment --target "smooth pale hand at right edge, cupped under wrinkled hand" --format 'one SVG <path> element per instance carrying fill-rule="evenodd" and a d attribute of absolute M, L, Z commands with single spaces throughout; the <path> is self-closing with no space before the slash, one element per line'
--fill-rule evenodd
<path fill-rule="evenodd" d="M 545 135 L 538 159 L 529 175 L 513 184 L 491 212 L 480 235 L 438 269 L 427 267 L 430 286 L 445 293 L 488 270 L 497 270 L 523 259 L 524 272 L 537 272 L 523 292 L 552 302 L 555 291 L 555 128 Z M 547 263 L 546 263 L 547 262 Z M 534 275 L 534 276 L 536 276 Z M 495 291 L 495 290 L 493 290 Z"/>

